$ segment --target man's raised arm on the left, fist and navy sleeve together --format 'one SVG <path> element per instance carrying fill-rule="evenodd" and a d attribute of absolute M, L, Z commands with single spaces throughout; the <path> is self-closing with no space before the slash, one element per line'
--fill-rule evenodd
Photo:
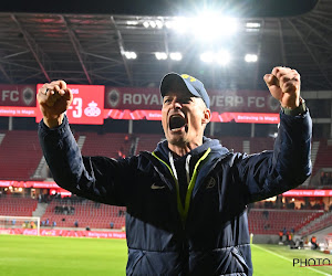
<path fill-rule="evenodd" d="M 39 139 L 55 182 L 83 198 L 126 205 L 135 181 L 136 159 L 82 157 L 64 112 L 73 99 L 63 81 L 44 84 L 38 93 L 43 114 Z"/>

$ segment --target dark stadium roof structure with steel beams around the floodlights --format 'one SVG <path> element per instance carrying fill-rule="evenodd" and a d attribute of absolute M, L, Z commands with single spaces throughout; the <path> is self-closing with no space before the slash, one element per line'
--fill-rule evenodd
<path fill-rule="evenodd" d="M 261 89 L 276 65 L 297 68 L 305 91 L 332 89 L 332 1 L 283 18 L 239 18 L 236 35 L 214 43 L 166 28 L 173 17 L 0 13 L 0 83 L 65 79 L 76 84 L 158 86 L 167 72 L 188 73 L 208 88 Z M 160 22 L 144 26 L 144 22 Z M 252 23 L 252 24 L 248 24 Z M 147 24 L 147 23 L 146 23 Z M 215 26 L 216 32 L 219 26 Z M 203 63 L 205 51 L 230 51 L 226 66 Z M 137 59 L 127 60 L 125 52 Z M 179 52 L 181 61 L 156 60 Z M 246 63 L 247 53 L 258 62 Z"/>

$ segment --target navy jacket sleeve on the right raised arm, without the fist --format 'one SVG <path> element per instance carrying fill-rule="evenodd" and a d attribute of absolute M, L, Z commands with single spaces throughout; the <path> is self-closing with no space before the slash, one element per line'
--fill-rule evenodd
<path fill-rule="evenodd" d="M 298 116 L 280 113 L 273 151 L 234 156 L 234 177 L 246 203 L 278 195 L 305 181 L 311 174 L 311 136 L 308 109 Z"/>

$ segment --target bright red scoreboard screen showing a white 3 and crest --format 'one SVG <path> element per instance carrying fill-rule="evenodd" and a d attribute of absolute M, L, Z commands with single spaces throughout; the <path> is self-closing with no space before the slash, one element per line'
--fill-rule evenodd
<path fill-rule="evenodd" d="M 37 88 L 42 87 L 38 84 Z M 73 103 L 66 112 L 70 124 L 103 125 L 104 124 L 104 86 L 69 84 L 73 92 Z M 42 119 L 42 114 L 37 108 L 35 121 Z"/>

